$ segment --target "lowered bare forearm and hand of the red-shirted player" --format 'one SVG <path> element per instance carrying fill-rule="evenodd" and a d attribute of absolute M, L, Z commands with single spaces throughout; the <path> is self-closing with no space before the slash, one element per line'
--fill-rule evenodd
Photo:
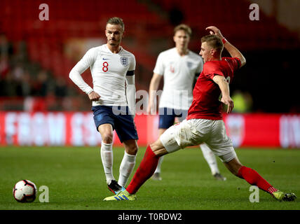
<path fill-rule="evenodd" d="M 217 85 L 219 85 L 219 88 L 222 93 L 221 102 L 227 105 L 227 113 L 231 113 L 234 105 L 233 105 L 233 100 L 231 99 L 229 94 L 229 84 L 226 82 L 224 76 L 217 75 L 214 76 L 212 80 L 214 80 L 214 83 L 217 83 Z"/>

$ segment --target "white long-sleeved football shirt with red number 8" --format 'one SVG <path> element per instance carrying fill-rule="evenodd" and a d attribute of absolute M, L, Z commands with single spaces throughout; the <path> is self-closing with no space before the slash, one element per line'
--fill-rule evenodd
<path fill-rule="evenodd" d="M 93 88 L 81 77 L 81 73 L 90 67 Z M 134 75 L 135 55 L 123 48 L 116 54 L 107 44 L 90 48 L 86 55 L 74 66 L 69 77 L 83 92 L 97 92 L 100 100 L 93 106 L 127 106 L 125 95 L 125 76 Z"/>

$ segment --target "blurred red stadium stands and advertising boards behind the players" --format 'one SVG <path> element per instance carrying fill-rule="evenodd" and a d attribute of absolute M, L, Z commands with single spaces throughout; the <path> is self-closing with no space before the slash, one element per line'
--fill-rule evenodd
<path fill-rule="evenodd" d="M 39 19 L 41 3 L 49 6 L 49 20 Z M 259 5 L 259 20 L 250 20 L 251 3 Z M 90 101 L 68 76 L 88 48 L 105 43 L 105 23 L 118 16 L 125 22 L 122 45 L 137 60 L 137 90 L 146 91 L 158 53 L 174 46 L 175 25 L 191 26 L 194 52 L 205 27 L 219 27 L 247 59 L 231 85 L 236 113 L 225 119 L 235 146 L 299 148 L 299 6 L 296 0 L 2 0 L 0 144 L 100 144 Z M 91 85 L 89 70 L 83 78 Z M 139 146 L 146 146 L 157 137 L 157 116 L 135 121 Z"/>

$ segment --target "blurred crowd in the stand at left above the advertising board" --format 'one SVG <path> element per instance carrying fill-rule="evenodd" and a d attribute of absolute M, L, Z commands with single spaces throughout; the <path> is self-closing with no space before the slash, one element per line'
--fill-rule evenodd
<path fill-rule="evenodd" d="M 11 43 L 0 34 L 1 110 L 86 110 L 89 107 L 83 97 L 67 85 L 65 78 L 54 77 L 51 71 L 30 62 L 24 41 Z"/>

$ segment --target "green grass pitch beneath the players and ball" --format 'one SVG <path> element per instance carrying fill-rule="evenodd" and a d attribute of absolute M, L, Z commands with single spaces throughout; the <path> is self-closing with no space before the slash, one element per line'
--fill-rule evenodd
<path fill-rule="evenodd" d="M 145 148 L 139 148 L 135 170 L 144 151 Z M 123 152 L 123 148 L 114 147 L 116 179 Z M 256 169 L 275 188 L 300 197 L 300 150 L 243 148 L 236 153 L 243 165 Z M 165 156 L 163 181 L 146 181 L 136 201 L 104 202 L 111 193 L 104 180 L 99 147 L 1 147 L 0 209 L 300 209 L 299 198 L 295 202 L 277 202 L 261 190 L 259 202 L 251 203 L 250 185 L 229 173 L 217 160 L 221 174 L 227 178 L 224 182 L 212 178 L 199 148 L 187 148 Z M 38 190 L 48 186 L 49 202 L 39 202 L 39 191 L 32 203 L 16 202 L 13 186 L 22 179 L 33 181 Z"/>

